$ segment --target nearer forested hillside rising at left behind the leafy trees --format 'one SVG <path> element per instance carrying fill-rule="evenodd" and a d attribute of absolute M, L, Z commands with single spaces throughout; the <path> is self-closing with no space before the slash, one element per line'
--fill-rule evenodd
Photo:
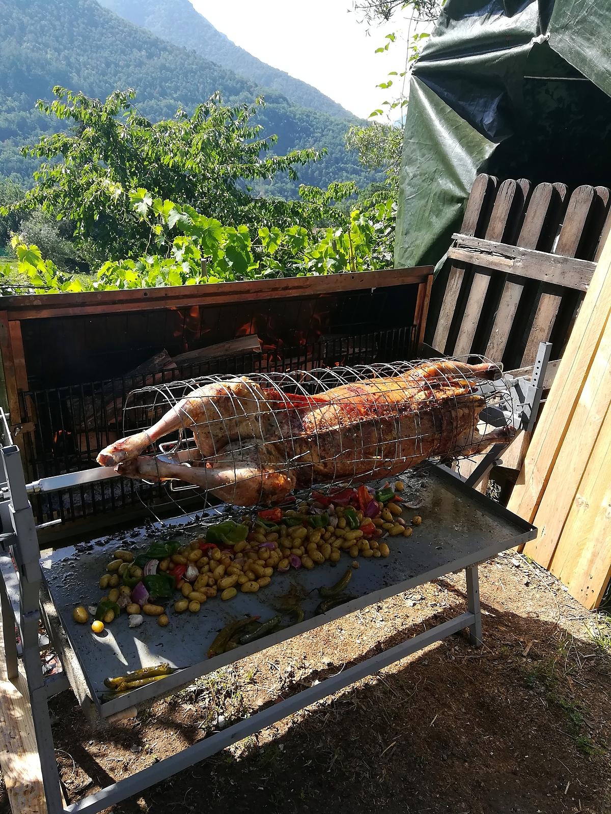
<path fill-rule="evenodd" d="M 50 98 L 53 85 L 104 97 L 133 87 L 138 107 L 152 120 L 173 116 L 178 105 L 191 110 L 215 90 L 226 102 L 248 102 L 262 88 L 219 67 L 192 50 L 165 42 L 99 6 L 95 0 L 0 0 L 0 174 L 28 180 L 36 164 L 19 153 L 24 143 L 60 129 L 57 120 L 33 110 Z M 277 133 L 279 152 L 293 147 L 327 147 L 329 155 L 304 168 L 301 181 L 327 186 L 371 180 L 357 155 L 344 147 L 349 122 L 297 107 L 277 91 L 266 91 L 257 116 L 266 134 Z M 275 193 L 295 185 L 275 184 Z"/>

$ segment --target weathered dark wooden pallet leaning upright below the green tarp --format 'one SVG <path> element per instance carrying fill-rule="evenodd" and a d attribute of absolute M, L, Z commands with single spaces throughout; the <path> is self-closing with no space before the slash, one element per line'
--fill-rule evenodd
<path fill-rule="evenodd" d="M 610 200 L 603 186 L 569 195 L 563 184 L 478 176 L 433 284 L 433 348 L 481 354 L 529 376 L 539 343 L 550 341 L 549 387 L 611 227 Z M 528 442 L 518 436 L 503 469 L 520 470 Z"/>

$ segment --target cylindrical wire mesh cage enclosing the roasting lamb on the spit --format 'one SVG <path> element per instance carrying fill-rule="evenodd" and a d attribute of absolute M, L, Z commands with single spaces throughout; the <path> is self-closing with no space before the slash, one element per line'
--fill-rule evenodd
<path fill-rule="evenodd" d="M 364 483 L 512 437 L 512 392 L 479 358 L 204 376 L 142 387 L 103 466 L 181 481 L 236 506 Z"/>

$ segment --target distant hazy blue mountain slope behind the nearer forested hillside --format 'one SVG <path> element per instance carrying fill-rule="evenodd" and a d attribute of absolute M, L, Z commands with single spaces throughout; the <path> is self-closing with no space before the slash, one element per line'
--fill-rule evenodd
<path fill-rule="evenodd" d="M 157 37 L 195 50 L 211 62 L 229 68 L 257 85 L 278 90 L 292 103 L 311 107 L 340 118 L 352 114 L 312 85 L 272 68 L 247 50 L 236 46 L 225 34 L 191 6 L 189 0 L 99 0 L 101 6 L 125 20 L 147 28 Z M 262 9 L 263 11 L 263 9 Z"/>

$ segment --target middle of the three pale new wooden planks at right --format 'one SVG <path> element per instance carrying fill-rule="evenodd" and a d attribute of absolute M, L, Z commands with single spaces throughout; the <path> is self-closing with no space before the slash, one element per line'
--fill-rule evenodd
<path fill-rule="evenodd" d="M 611 320 L 594 354 L 569 427 L 556 455 L 545 491 L 534 516 L 536 540 L 525 545 L 525 554 L 549 567 L 565 526 L 569 507 L 596 444 L 600 427 L 611 402 Z"/>

